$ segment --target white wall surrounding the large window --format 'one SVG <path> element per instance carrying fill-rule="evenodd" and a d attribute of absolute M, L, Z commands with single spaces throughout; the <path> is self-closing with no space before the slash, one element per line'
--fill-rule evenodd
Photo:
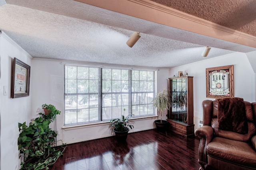
<path fill-rule="evenodd" d="M 72 63 L 67 61 L 33 59 L 31 79 L 33 87 L 32 95 L 32 112 L 33 117 L 37 117 L 42 104 L 52 104 L 61 111 L 61 115 L 57 115 L 56 129 L 59 131 L 57 140 L 61 143 L 75 143 L 80 141 L 88 141 L 102 137 L 109 137 L 113 135 L 109 129 L 109 123 L 101 123 L 100 125 L 84 125 L 72 128 L 63 128 L 63 107 L 64 107 L 64 64 L 85 64 L 86 63 Z M 92 65 L 92 64 L 90 64 Z M 97 64 L 93 64 L 97 65 Z M 98 64 L 102 66 L 102 64 Z M 109 65 L 108 65 L 109 66 Z M 123 66 L 122 66 L 123 67 Z M 127 67 L 129 68 L 129 67 Z M 133 68 L 136 68 L 133 66 Z M 154 68 L 156 69 L 156 68 Z M 158 90 L 167 88 L 167 81 L 169 75 L 168 69 L 157 70 L 157 84 Z M 155 128 L 154 120 L 158 117 L 134 119 L 134 129 L 129 133 L 135 131 L 142 131 Z"/>

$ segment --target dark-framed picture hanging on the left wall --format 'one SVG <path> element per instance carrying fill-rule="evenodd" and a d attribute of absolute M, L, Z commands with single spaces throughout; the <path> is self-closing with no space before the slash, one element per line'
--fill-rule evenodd
<path fill-rule="evenodd" d="M 11 75 L 11 97 L 29 96 L 30 66 L 14 58 Z"/>

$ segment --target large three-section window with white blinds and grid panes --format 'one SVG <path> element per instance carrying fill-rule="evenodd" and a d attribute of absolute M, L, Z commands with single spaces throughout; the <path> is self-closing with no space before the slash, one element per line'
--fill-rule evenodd
<path fill-rule="evenodd" d="M 64 67 L 64 125 L 155 115 L 155 71 Z"/>

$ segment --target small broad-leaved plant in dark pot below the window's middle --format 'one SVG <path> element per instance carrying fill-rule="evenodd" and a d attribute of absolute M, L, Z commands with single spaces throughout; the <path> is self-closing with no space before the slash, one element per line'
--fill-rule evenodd
<path fill-rule="evenodd" d="M 124 108 L 124 111 L 125 110 L 126 109 Z M 133 123 L 129 123 L 129 117 L 132 117 L 132 114 L 127 115 L 126 117 L 124 117 L 124 115 L 121 115 L 121 118 L 110 120 L 110 129 L 115 132 L 117 141 L 126 141 L 129 128 L 134 128 Z"/>

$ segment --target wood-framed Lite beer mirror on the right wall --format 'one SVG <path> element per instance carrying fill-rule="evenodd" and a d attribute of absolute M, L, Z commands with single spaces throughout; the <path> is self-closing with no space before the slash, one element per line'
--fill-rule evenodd
<path fill-rule="evenodd" d="M 206 97 L 234 97 L 234 65 L 206 68 Z"/>

